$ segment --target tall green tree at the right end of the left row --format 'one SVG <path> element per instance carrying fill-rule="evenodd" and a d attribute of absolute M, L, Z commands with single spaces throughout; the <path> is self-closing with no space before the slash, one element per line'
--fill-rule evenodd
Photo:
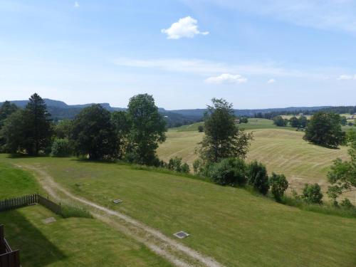
<path fill-rule="evenodd" d="M 159 114 L 152 95 L 141 94 L 130 98 L 127 109 L 131 123 L 127 151 L 139 164 L 156 165 L 156 150 L 166 140 L 166 122 Z"/>

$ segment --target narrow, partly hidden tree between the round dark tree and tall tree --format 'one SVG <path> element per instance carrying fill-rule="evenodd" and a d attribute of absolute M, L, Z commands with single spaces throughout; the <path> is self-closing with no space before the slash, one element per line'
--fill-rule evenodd
<path fill-rule="evenodd" d="M 118 142 L 118 155 L 122 159 L 129 144 L 128 135 L 130 133 L 131 124 L 128 119 L 127 113 L 124 111 L 115 111 L 111 114 L 112 125 L 115 127 L 115 133 Z"/>

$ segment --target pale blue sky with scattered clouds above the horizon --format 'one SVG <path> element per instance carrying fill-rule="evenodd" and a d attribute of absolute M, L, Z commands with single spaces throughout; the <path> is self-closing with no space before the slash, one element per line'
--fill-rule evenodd
<path fill-rule="evenodd" d="M 0 0 L 0 101 L 356 105 L 356 1 Z"/>

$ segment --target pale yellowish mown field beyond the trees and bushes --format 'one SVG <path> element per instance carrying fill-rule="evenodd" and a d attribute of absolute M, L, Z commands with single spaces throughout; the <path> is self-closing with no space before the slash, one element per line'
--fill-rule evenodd
<path fill-rule="evenodd" d="M 303 140 L 304 132 L 278 129 L 253 130 L 253 141 L 247 160 L 257 159 L 266 164 L 268 172 L 283 173 L 290 188 L 301 189 L 305 183 L 318 182 L 324 190 L 326 175 L 337 157 L 347 159 L 347 147 L 338 150 L 312 145 Z M 169 130 L 167 140 L 159 146 L 158 155 L 164 161 L 182 157 L 191 167 L 198 155 L 195 153 L 204 133 Z M 353 194 L 349 195 L 353 200 Z"/>

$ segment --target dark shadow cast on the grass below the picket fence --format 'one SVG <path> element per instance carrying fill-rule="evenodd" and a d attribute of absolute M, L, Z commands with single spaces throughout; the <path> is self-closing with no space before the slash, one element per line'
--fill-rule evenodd
<path fill-rule="evenodd" d="M 9 242 L 11 248 L 13 250 L 20 250 L 21 266 L 47 266 L 66 258 L 19 211 L 1 212 L 0 223 L 4 224 L 6 240 Z"/>

